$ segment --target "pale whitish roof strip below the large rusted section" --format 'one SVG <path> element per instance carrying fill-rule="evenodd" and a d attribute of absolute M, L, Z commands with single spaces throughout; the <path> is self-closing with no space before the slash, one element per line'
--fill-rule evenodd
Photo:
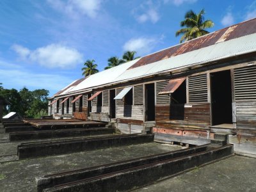
<path fill-rule="evenodd" d="M 188 67 L 204 63 L 206 61 L 214 61 L 216 59 L 252 51 L 256 51 L 256 33 L 221 42 L 219 44 L 214 44 L 195 51 L 186 52 L 166 60 L 160 60 L 141 67 L 131 68 L 126 70 L 122 76 L 117 77 L 115 81 L 145 77 L 158 72 Z"/>

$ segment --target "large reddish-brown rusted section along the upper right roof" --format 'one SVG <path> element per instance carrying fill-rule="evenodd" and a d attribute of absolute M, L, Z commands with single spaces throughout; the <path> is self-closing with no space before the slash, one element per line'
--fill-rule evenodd
<path fill-rule="evenodd" d="M 136 63 L 134 63 L 134 65 L 132 65 L 128 69 L 140 67 L 160 60 L 165 60 L 179 54 L 202 49 L 204 47 L 208 47 L 209 45 L 214 45 L 218 42 L 225 42 L 227 40 L 250 35 L 255 32 L 256 19 L 241 22 L 234 26 L 230 26 L 229 28 L 220 29 L 219 31 L 215 31 L 208 35 L 201 36 L 200 38 L 196 38 L 194 40 L 184 42 L 183 44 L 175 45 L 168 49 L 164 49 L 162 51 L 145 56 Z"/>

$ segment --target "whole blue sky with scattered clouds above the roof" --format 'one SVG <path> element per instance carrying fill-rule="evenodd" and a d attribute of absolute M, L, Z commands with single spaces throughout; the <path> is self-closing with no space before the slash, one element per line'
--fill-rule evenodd
<path fill-rule="evenodd" d="M 124 51 L 179 44 L 188 10 L 204 8 L 210 32 L 256 17 L 256 0 L 1 0 L 0 8 L 0 83 L 50 95 L 81 78 L 88 59 L 103 70 Z"/>

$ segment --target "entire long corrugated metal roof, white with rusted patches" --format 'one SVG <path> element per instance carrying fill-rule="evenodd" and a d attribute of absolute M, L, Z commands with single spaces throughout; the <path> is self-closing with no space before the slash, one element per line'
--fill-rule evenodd
<path fill-rule="evenodd" d="M 72 95 L 105 84 L 121 83 L 139 77 L 170 72 L 177 68 L 190 67 L 231 56 L 256 51 L 256 19 L 241 22 L 209 35 L 196 38 L 143 58 L 129 61 L 117 67 L 93 74 L 61 90 Z M 60 95 L 60 93 L 58 93 Z M 56 95 L 55 95 L 56 96 Z"/>

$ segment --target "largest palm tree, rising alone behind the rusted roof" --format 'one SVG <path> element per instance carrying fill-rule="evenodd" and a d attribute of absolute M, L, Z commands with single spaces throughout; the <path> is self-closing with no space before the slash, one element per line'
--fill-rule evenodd
<path fill-rule="evenodd" d="M 185 20 L 180 22 L 180 26 L 186 28 L 179 29 L 175 34 L 175 36 L 182 35 L 180 43 L 209 33 L 208 31 L 205 31 L 205 29 L 212 28 L 214 23 L 212 20 L 204 20 L 204 14 L 204 9 L 202 9 L 197 15 L 193 10 L 186 12 Z"/>

